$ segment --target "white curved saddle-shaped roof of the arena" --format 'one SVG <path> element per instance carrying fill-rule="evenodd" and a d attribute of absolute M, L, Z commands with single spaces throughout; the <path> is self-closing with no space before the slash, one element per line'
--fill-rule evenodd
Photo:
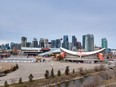
<path fill-rule="evenodd" d="M 102 52 L 105 50 L 105 48 L 102 48 L 102 49 L 96 50 L 96 51 L 91 51 L 91 52 L 75 52 L 75 51 L 67 50 L 67 49 L 62 48 L 62 47 L 60 47 L 60 50 L 66 52 L 68 54 L 75 55 L 75 56 L 88 56 L 88 55 L 93 55 L 93 54 Z"/>

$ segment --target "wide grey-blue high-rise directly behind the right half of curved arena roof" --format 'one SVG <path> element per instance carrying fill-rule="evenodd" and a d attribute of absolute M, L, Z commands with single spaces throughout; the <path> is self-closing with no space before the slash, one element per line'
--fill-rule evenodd
<path fill-rule="evenodd" d="M 94 51 L 94 36 L 92 34 L 83 35 L 83 47 L 85 51 Z"/>

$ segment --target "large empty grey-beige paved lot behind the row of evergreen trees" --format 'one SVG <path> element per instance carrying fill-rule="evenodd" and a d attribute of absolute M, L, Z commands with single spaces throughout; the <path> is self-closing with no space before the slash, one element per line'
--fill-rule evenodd
<path fill-rule="evenodd" d="M 64 63 L 64 62 L 41 62 L 41 63 L 17 63 L 19 69 L 7 74 L 7 76 L 0 77 L 0 85 L 4 84 L 4 81 L 7 80 L 9 84 L 18 82 L 18 79 L 22 77 L 23 81 L 28 81 L 29 74 L 34 75 L 34 79 L 44 78 L 46 70 L 51 71 L 52 67 L 54 68 L 54 73 L 60 69 L 61 73 L 64 73 L 66 66 L 69 66 L 70 72 L 73 69 L 76 71 L 78 68 L 83 67 L 86 69 L 94 68 L 99 64 L 79 64 L 79 63 Z"/>

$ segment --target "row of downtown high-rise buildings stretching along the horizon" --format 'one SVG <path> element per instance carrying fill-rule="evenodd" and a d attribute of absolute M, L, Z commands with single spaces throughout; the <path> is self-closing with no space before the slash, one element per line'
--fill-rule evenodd
<path fill-rule="evenodd" d="M 105 40 L 102 41 L 102 40 Z M 96 48 L 109 48 L 107 38 L 101 39 L 101 46 L 94 44 L 94 35 L 86 34 L 82 36 L 82 42 L 77 41 L 75 35 L 72 36 L 72 40 L 69 41 L 69 36 L 64 35 L 63 38 L 56 38 L 54 40 L 49 40 L 48 38 L 33 38 L 33 40 L 29 41 L 28 37 L 22 36 L 20 38 L 20 42 L 10 42 L 0 45 L 1 49 L 13 49 L 16 47 L 17 49 L 21 49 L 21 47 L 31 47 L 31 48 L 66 48 L 69 50 L 79 50 L 84 49 L 85 51 L 93 51 Z M 76 47 L 76 48 L 75 48 Z"/>

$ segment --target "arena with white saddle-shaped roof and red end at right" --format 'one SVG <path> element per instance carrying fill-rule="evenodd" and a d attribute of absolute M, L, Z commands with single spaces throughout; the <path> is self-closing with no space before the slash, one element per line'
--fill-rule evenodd
<path fill-rule="evenodd" d="M 70 62 L 79 62 L 79 63 L 95 63 L 101 62 L 104 60 L 105 48 L 91 51 L 91 52 L 76 52 L 67 50 L 65 48 L 60 47 L 60 50 L 66 53 L 65 61 Z"/>

